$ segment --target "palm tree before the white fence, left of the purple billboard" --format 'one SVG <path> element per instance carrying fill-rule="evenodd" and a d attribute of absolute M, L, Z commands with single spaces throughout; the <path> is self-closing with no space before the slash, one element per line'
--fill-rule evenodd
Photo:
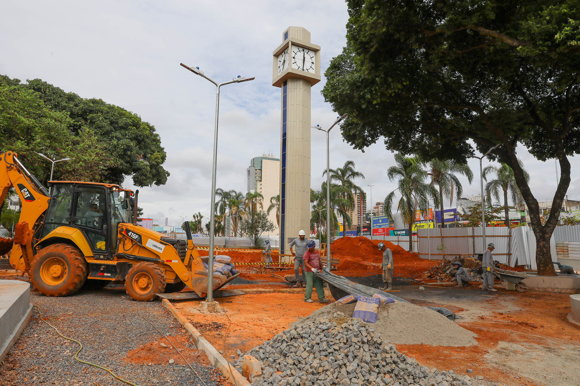
<path fill-rule="evenodd" d="M 397 189 L 385 197 L 384 208 L 389 217 L 393 217 L 391 210 L 395 194 L 401 195 L 397 204 L 397 210 L 401 212 L 403 221 L 409 226 L 409 252 L 413 251 L 412 230 L 415 223 L 415 211 L 427 212 L 427 200 L 435 198 L 435 204 L 439 204 L 439 194 L 433 185 L 425 182 L 427 172 L 423 169 L 424 164 L 418 157 L 405 157 L 397 153 L 395 156 L 396 166 L 387 169 L 387 177 L 390 181 L 397 181 Z"/>

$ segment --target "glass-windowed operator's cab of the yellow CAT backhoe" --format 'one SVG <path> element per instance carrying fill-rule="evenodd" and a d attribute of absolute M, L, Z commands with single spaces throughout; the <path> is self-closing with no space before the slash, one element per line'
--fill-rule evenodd
<path fill-rule="evenodd" d="M 95 259 L 111 260 L 117 251 L 119 223 L 131 223 L 135 194 L 111 183 L 50 181 L 52 193 L 39 239 L 59 227 L 78 230 Z M 61 229 L 63 232 L 67 229 Z"/>

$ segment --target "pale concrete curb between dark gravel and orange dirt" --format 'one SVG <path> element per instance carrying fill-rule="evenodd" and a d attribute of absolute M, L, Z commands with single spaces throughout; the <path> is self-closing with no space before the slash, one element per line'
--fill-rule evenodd
<path fill-rule="evenodd" d="M 242 374 L 238 373 L 238 370 L 236 370 L 234 366 L 231 366 L 227 362 L 226 358 L 224 358 L 218 350 L 216 350 L 212 344 L 209 343 L 209 341 L 206 340 L 189 321 L 187 321 L 187 318 L 184 317 L 183 314 L 180 313 L 171 302 L 169 302 L 169 300 L 162 299 L 161 304 L 168 308 L 173 317 L 175 317 L 177 321 L 191 334 L 191 336 L 193 336 L 197 348 L 204 350 L 205 354 L 208 356 L 209 363 L 211 363 L 213 367 L 220 369 L 231 384 L 235 386 L 251 386 L 251 383 L 249 383 Z"/>

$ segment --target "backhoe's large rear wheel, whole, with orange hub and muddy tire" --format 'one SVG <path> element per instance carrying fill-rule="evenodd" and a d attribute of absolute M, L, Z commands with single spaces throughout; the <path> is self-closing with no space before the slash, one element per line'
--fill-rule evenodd
<path fill-rule="evenodd" d="M 86 260 L 72 245 L 52 244 L 37 253 L 30 273 L 32 286 L 41 295 L 73 295 L 86 280 Z"/>

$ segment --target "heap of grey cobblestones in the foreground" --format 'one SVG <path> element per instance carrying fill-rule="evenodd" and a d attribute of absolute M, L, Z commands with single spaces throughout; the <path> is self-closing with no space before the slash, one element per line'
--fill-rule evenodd
<path fill-rule="evenodd" d="M 471 385 L 468 376 L 453 370 L 439 372 L 421 366 L 380 339 L 372 326 L 339 312 L 291 326 L 247 352 L 262 370 L 252 385 Z M 238 355 L 233 365 L 242 373 L 244 357 L 241 352 Z"/>

